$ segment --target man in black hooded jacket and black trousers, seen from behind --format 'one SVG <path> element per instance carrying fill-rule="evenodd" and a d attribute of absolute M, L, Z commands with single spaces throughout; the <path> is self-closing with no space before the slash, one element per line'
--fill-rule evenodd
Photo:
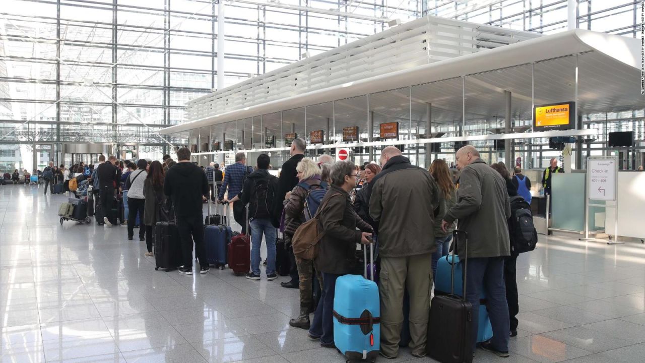
<path fill-rule="evenodd" d="M 200 167 L 190 162 L 190 150 L 177 150 L 179 162 L 166 172 L 164 194 L 172 199 L 181 239 L 184 267 L 179 273 L 193 275 L 193 241 L 195 257 L 199 260 L 199 273 L 208 273 L 206 246 L 204 245 L 203 202 L 208 196 L 208 180 Z M 192 236 L 192 238 L 191 238 Z"/>

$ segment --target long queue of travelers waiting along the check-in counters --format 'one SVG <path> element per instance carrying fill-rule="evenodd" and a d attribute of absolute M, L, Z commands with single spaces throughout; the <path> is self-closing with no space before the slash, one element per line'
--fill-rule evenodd
<path fill-rule="evenodd" d="M 504 163 L 488 165 L 475 147 L 466 145 L 456 154 L 459 181 L 454 183 L 444 160 L 429 169 L 410 163 L 401 150 L 386 147 L 379 163 L 354 165 L 333 161 L 332 156 L 307 158 L 306 141 L 293 140 L 290 158 L 279 177 L 273 176 L 270 156 L 261 154 L 255 167 L 239 152 L 225 171 L 217 163 L 206 168 L 190 161 L 190 150 L 177 150 L 177 161 L 118 161 L 100 156 L 95 165 L 79 163 L 66 169 L 54 162 L 43 171 L 45 194 L 50 184 L 63 183 L 64 191 L 79 198 L 92 194 L 97 200 L 98 222 L 127 225 L 128 240 L 139 227 L 146 242 L 146 256 L 154 256 L 155 224 L 174 220 L 179 231 L 182 265 L 179 272 L 208 273 L 204 241 L 203 203 L 232 205 L 241 233 L 251 236 L 250 271 L 246 278 L 260 280 L 260 247 L 267 256 L 266 279 L 275 280 L 282 262 L 285 288 L 299 289 L 300 311 L 290 325 L 308 330 L 308 337 L 323 347 L 333 341 L 333 300 L 337 278 L 362 274 L 361 249 L 373 244 L 381 304 L 380 355 L 396 358 L 401 331 L 409 325 L 415 357 L 426 355 L 429 311 L 437 262 L 452 250 L 452 231 L 468 233 L 468 245 L 456 254 L 467 256 L 466 300 L 472 309 L 473 355 L 478 331 L 480 294 L 487 296 L 493 337 L 481 348 L 508 357 L 509 338 L 517 335 L 519 311 L 515 264 L 508 218 L 510 198 L 520 194 L 530 200 L 530 180 L 516 168 L 510 176 Z M 548 186 L 551 169 L 543 183 Z M 91 188 L 88 186 L 91 185 Z M 406 187 L 401 187 L 406 185 Z M 88 191 L 90 189 L 90 191 Z M 85 194 L 83 194 L 85 191 Z M 124 212 L 119 211 L 120 204 Z M 293 238 L 299 227 L 317 218 L 324 235 L 315 259 L 294 253 Z M 248 221 L 250 231 L 246 231 Z M 281 240 L 277 251 L 277 241 Z M 357 249 L 358 248 L 358 249 Z M 466 254 L 468 249 L 468 254 Z M 193 251 L 194 250 L 194 251 Z M 284 258 L 277 255 L 284 254 Z M 284 264 L 288 265 L 285 268 Z M 409 296 L 409 316 L 404 318 L 404 295 Z M 406 297 L 407 299 L 407 297 Z M 407 303 L 406 303 L 407 304 Z M 313 320 L 310 320 L 310 314 Z M 404 321 L 407 320 L 407 321 Z"/>

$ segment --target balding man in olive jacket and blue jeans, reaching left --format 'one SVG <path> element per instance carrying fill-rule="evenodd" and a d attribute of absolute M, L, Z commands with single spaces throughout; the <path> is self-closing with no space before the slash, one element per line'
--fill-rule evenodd
<path fill-rule="evenodd" d="M 457 253 L 468 264 L 466 300 L 473 306 L 473 353 L 479 328 L 479 295 L 483 288 L 488 296 L 486 307 L 493 338 L 481 347 L 499 357 L 508 357 L 510 320 L 504 285 L 504 256 L 510 255 L 507 220 L 511 216 L 511 205 L 506 182 L 499 172 L 479 158 L 479 152 L 471 145 L 459 149 L 456 159 L 457 169 L 461 170 L 457 204 L 446 213 L 441 227 L 445 231 L 448 225 L 459 220 L 459 229 L 468 233 L 467 251 L 464 241 L 459 241 Z"/>

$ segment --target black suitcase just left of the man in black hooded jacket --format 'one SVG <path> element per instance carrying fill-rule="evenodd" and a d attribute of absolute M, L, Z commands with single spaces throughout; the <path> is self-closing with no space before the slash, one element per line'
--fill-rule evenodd
<path fill-rule="evenodd" d="M 155 270 L 176 269 L 183 265 L 179 230 L 175 222 L 157 222 L 154 232 Z"/>

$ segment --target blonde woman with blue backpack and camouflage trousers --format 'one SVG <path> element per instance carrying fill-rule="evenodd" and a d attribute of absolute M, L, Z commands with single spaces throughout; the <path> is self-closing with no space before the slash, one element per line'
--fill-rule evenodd
<path fill-rule="evenodd" d="M 293 233 L 304 222 L 304 200 L 308 193 L 306 188 L 327 188 L 326 183 L 321 182 L 321 169 L 313 160 L 304 158 L 297 164 L 295 171 L 300 182 L 284 198 L 284 236 L 287 244 L 291 244 Z M 309 314 L 313 311 L 313 261 L 295 256 L 295 264 L 300 280 L 300 315 L 290 320 L 289 325 L 309 329 Z"/>

